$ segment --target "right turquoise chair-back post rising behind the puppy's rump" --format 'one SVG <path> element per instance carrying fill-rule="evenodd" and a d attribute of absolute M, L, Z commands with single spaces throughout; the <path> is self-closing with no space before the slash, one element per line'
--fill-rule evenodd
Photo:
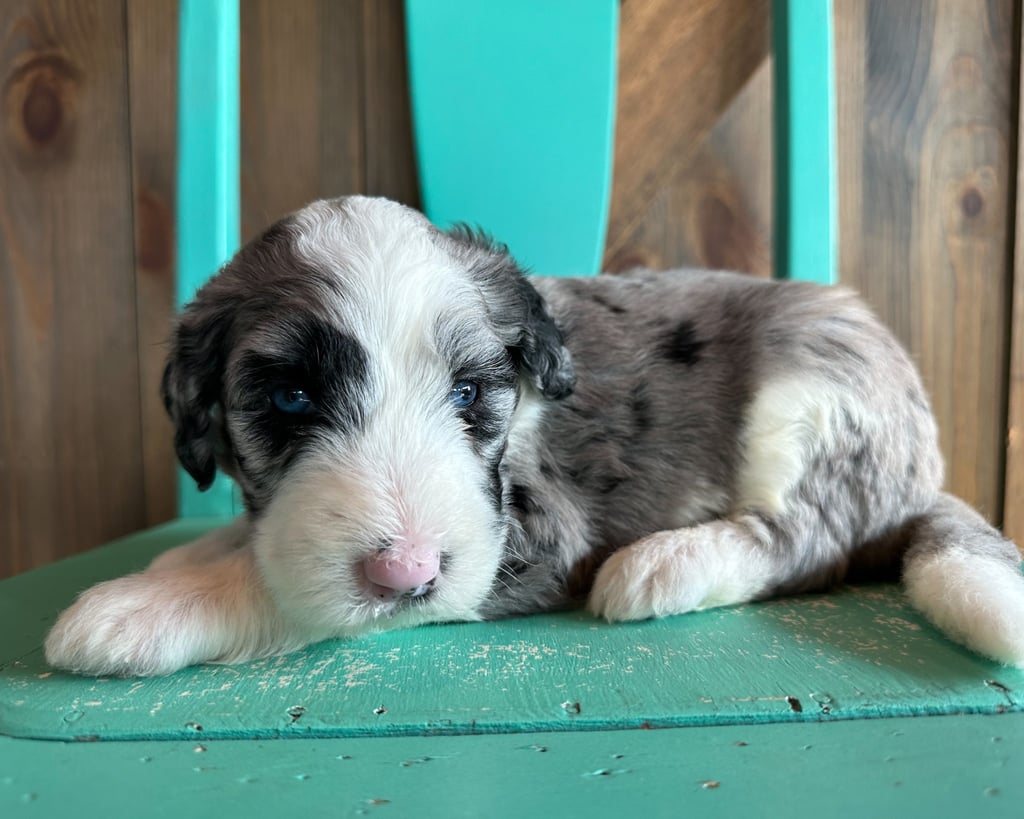
<path fill-rule="evenodd" d="M 837 276 L 831 0 L 773 0 L 775 274 Z"/>

